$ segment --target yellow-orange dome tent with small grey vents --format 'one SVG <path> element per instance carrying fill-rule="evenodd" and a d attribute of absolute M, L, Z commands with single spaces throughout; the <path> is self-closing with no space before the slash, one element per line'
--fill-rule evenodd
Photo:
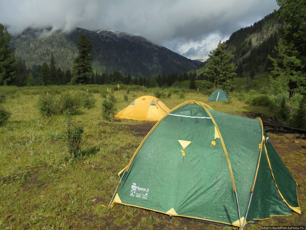
<path fill-rule="evenodd" d="M 158 98 L 142 96 L 115 115 L 117 118 L 138 121 L 159 121 L 170 109 Z"/>

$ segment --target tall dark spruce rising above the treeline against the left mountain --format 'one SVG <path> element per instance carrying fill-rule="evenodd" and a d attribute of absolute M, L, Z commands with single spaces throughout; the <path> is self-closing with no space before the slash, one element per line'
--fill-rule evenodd
<path fill-rule="evenodd" d="M 73 63 L 73 75 L 76 84 L 86 84 L 90 80 L 93 60 L 92 47 L 92 41 L 84 33 L 81 33 L 77 43 L 79 55 L 74 59 Z"/>

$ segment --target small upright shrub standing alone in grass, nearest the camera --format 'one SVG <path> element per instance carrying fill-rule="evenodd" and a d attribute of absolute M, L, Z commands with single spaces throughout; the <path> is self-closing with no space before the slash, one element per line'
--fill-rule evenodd
<path fill-rule="evenodd" d="M 71 125 L 70 120 L 67 124 L 67 143 L 68 150 L 72 158 L 79 156 L 80 153 L 80 142 L 84 132 L 82 125 Z"/>

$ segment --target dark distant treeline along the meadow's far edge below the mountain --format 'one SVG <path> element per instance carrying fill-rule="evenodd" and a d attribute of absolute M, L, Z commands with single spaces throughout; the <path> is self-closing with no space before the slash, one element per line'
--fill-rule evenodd
<path fill-rule="evenodd" d="M 73 77 L 70 69 L 63 70 L 56 66 L 53 54 L 51 54 L 50 63 L 42 65 L 33 65 L 27 68 L 24 60 L 17 58 L 17 71 L 12 82 L 9 85 L 15 86 L 38 86 L 38 85 L 66 85 L 71 82 Z M 169 75 L 162 74 L 154 77 L 158 86 L 172 86 L 176 81 L 184 80 L 204 80 L 204 75 L 196 76 L 195 73 L 184 72 L 182 74 L 171 73 Z M 119 71 L 109 73 L 108 71 L 101 72 L 99 70 L 91 71 L 91 77 L 87 84 L 126 84 L 149 86 L 151 78 L 140 77 L 133 78 L 129 73 L 127 76 L 122 75 Z"/>

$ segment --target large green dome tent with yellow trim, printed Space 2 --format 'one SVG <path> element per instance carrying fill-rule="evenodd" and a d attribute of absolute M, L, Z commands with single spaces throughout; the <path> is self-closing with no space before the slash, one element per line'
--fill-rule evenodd
<path fill-rule="evenodd" d="M 297 183 L 260 118 L 221 113 L 203 102 L 170 110 L 118 175 L 111 207 L 118 203 L 239 228 L 301 213 Z"/>

